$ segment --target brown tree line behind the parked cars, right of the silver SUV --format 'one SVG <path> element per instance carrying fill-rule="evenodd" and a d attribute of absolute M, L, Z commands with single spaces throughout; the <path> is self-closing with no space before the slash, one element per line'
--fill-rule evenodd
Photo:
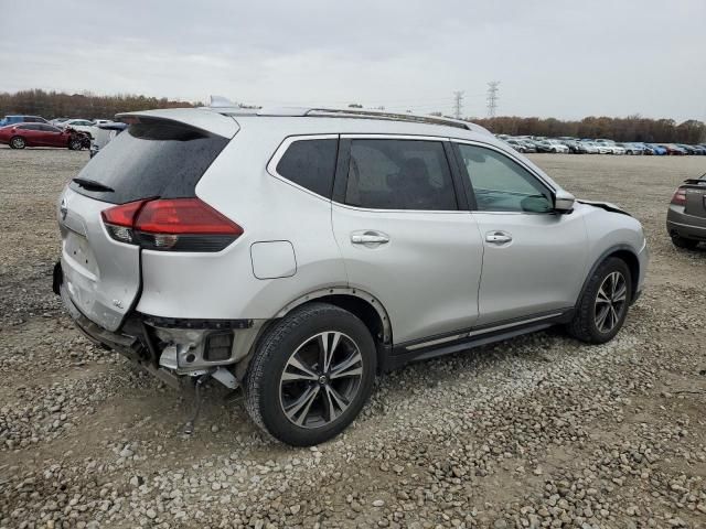
<path fill-rule="evenodd" d="M 677 123 L 673 119 L 649 119 L 641 116 L 627 118 L 589 117 L 580 121 L 555 118 L 494 117 L 473 118 L 474 123 L 495 134 L 543 136 L 557 138 L 607 138 L 614 141 L 644 141 L 648 143 L 702 143 L 706 141 L 706 123 L 689 119 Z"/>

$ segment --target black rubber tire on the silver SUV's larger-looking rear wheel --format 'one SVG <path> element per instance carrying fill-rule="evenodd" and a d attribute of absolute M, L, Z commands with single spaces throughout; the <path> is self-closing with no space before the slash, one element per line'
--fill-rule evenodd
<path fill-rule="evenodd" d="M 317 391 L 311 399 L 312 403 L 304 407 L 303 425 L 298 425 L 290 418 L 292 412 L 290 411 L 290 417 L 285 412 L 286 404 L 284 399 L 287 390 L 284 388 L 289 388 L 289 386 L 285 386 L 285 384 L 289 382 L 285 382 L 282 376 L 288 366 L 291 368 L 289 363 L 295 357 L 296 352 L 302 350 L 308 344 L 313 344 L 313 341 L 321 333 L 329 332 L 342 333 L 345 338 L 357 347 L 362 375 L 360 378 L 355 378 L 356 382 L 353 382 L 356 384 L 356 390 L 347 401 L 347 407 L 338 410 L 340 414 L 331 419 L 331 415 L 334 414 L 331 410 L 334 407 L 327 408 L 324 398 L 329 395 L 325 391 L 325 386 L 330 384 L 333 387 L 334 384 L 333 377 L 328 381 L 325 380 L 328 375 L 333 374 L 333 368 L 335 367 L 333 366 L 333 360 L 331 369 L 323 377 L 319 376 L 319 363 L 315 365 L 307 364 L 308 367 L 312 368 L 312 371 L 315 371 L 319 378 L 318 381 L 297 380 L 291 382 L 292 385 L 299 385 L 298 388 L 306 388 L 301 396 L 295 399 L 295 403 L 308 400 L 304 399 L 304 396 L 311 395 L 313 390 Z M 347 342 L 344 345 L 350 347 Z M 340 346 L 339 348 L 332 348 L 332 358 L 340 348 Z M 354 353 L 349 353 L 349 357 L 352 357 Z M 373 390 L 375 371 L 375 343 L 361 320 L 343 309 L 327 303 L 306 304 L 277 322 L 260 339 L 245 379 L 246 409 L 258 427 L 284 443 L 292 446 L 319 444 L 338 435 L 357 417 Z M 322 378 L 324 381 L 322 381 Z M 340 382 L 341 379 L 335 381 L 335 384 Z M 293 391 L 293 393 L 296 392 Z M 341 396 L 340 393 L 336 395 Z M 330 397 L 328 402 L 329 407 L 332 407 Z M 289 410 L 292 408 L 296 407 L 290 406 Z M 320 410 L 320 417 L 317 417 L 318 410 Z M 310 420 L 310 413 L 313 417 L 313 421 Z M 295 412 L 295 418 L 296 414 Z M 324 414 L 328 414 L 328 418 Z M 317 423 L 317 420 L 320 424 Z M 309 425 L 306 425 L 307 423 Z"/>

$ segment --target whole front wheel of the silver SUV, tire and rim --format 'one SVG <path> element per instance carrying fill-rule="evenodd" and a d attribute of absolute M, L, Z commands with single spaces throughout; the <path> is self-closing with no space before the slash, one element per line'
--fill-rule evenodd
<path fill-rule="evenodd" d="M 632 278 L 625 261 L 606 259 L 593 271 L 581 294 L 568 333 L 581 342 L 603 344 L 612 339 L 625 321 L 632 300 Z"/>

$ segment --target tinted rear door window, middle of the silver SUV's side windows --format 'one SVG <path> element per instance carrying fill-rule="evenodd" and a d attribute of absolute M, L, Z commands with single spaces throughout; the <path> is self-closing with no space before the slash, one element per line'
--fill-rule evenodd
<path fill-rule="evenodd" d="M 372 209 L 458 208 L 440 141 L 351 141 L 345 203 Z"/>

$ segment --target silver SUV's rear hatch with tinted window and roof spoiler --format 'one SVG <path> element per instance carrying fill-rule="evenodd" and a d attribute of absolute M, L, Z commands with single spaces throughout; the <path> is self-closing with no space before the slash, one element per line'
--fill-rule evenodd
<path fill-rule="evenodd" d="M 141 272 L 140 246 L 117 240 L 106 212 L 145 199 L 195 197 L 199 180 L 238 130 L 232 118 L 208 110 L 124 119 L 129 128 L 67 185 L 58 210 L 64 294 L 108 331 L 118 330 L 137 303 Z"/>

